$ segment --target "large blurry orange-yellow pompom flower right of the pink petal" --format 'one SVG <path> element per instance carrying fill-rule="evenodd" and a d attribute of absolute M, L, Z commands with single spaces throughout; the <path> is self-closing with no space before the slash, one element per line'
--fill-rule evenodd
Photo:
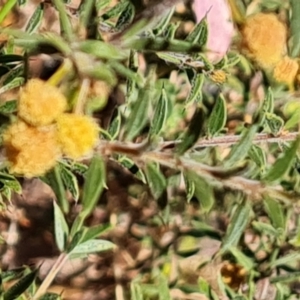
<path fill-rule="evenodd" d="M 287 29 L 276 15 L 249 17 L 242 29 L 243 44 L 262 67 L 272 68 L 286 53 Z"/>

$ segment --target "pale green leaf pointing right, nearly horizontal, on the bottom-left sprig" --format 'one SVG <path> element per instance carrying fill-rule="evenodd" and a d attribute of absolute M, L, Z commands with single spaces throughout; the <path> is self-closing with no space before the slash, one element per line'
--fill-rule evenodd
<path fill-rule="evenodd" d="M 115 245 L 106 240 L 88 240 L 82 244 L 77 245 L 70 253 L 69 258 L 86 257 L 90 253 L 102 252 L 111 250 Z"/>

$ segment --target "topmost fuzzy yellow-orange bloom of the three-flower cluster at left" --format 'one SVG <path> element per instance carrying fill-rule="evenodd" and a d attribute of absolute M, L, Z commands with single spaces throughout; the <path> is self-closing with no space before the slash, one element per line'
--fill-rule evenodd
<path fill-rule="evenodd" d="M 40 79 L 31 79 L 21 90 L 19 116 L 33 126 L 51 124 L 67 108 L 61 91 Z"/>

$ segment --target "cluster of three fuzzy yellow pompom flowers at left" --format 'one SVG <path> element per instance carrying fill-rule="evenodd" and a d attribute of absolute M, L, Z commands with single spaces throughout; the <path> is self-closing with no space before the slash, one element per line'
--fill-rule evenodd
<path fill-rule="evenodd" d="M 21 90 L 18 119 L 4 133 L 9 169 L 25 177 L 41 176 L 66 155 L 78 159 L 91 152 L 98 126 L 87 116 L 67 114 L 60 90 L 38 79 Z"/>

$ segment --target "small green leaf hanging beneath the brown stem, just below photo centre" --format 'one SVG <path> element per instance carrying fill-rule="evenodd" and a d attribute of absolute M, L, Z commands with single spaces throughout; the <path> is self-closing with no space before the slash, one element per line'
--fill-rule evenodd
<path fill-rule="evenodd" d="M 145 174 L 153 197 L 158 200 L 167 187 L 167 181 L 159 170 L 159 166 L 154 163 L 146 164 Z"/>

